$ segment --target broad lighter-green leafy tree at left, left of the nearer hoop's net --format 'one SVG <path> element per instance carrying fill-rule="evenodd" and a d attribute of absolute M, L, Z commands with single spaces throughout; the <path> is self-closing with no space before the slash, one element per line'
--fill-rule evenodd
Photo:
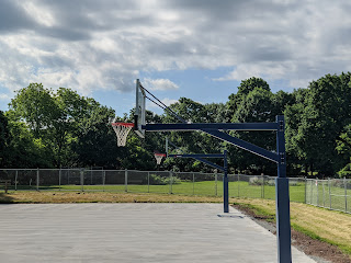
<path fill-rule="evenodd" d="M 102 121 L 105 125 L 109 122 L 106 115 L 114 115 L 93 99 L 80 96 L 70 89 L 60 88 L 55 93 L 37 83 L 21 89 L 11 101 L 10 111 L 29 125 L 34 139 L 39 140 L 52 153 L 53 165 L 56 168 L 77 165 L 77 155 L 82 151 L 75 152 L 72 147 L 77 145 L 80 136 L 87 139 L 89 133 L 97 132 L 92 125 L 98 125 L 99 122 L 92 118 L 99 114 L 99 117 L 102 117 L 102 112 L 109 112 Z M 98 140 L 93 142 L 98 144 Z M 88 162 L 91 163 L 91 160 Z"/>

